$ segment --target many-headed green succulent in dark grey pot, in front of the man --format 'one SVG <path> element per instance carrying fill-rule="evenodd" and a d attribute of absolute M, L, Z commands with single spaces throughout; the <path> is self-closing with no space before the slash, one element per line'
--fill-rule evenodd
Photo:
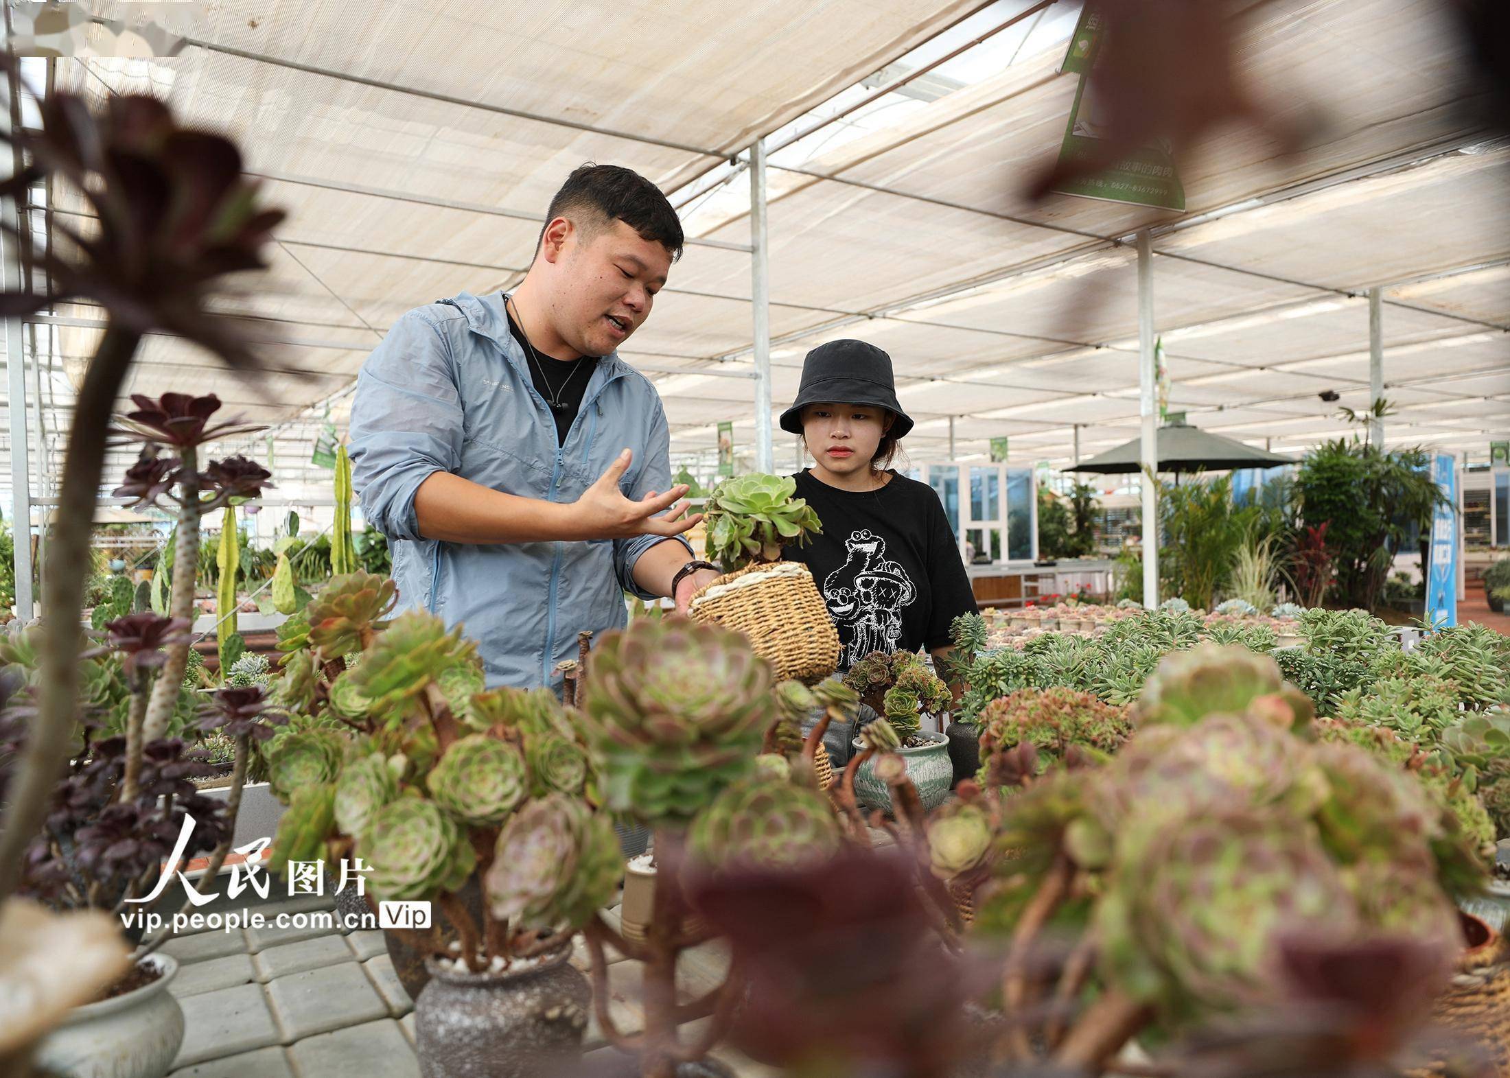
<path fill-rule="evenodd" d="M 279 691 L 305 716 L 266 752 L 288 799 L 270 867 L 343 859 L 368 871 L 368 903 L 432 901 L 438 932 L 388 930 L 412 948 L 396 954 L 406 987 L 406 959 L 427 974 L 423 1072 L 539 1073 L 580 1051 L 590 992 L 571 938 L 618 885 L 618 838 L 554 695 L 483 690 L 461 630 L 387 621 L 393 601 L 390 580 L 335 577 L 287 633 Z"/>

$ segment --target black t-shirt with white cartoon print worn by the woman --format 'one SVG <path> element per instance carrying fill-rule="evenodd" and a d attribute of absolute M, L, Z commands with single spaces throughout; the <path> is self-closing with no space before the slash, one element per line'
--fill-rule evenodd
<path fill-rule="evenodd" d="M 844 645 L 840 669 L 873 651 L 945 648 L 950 622 L 978 610 L 938 494 L 888 474 L 889 483 L 865 492 L 841 491 L 806 471 L 793 476 L 823 534 L 782 556 L 812 571 Z"/>

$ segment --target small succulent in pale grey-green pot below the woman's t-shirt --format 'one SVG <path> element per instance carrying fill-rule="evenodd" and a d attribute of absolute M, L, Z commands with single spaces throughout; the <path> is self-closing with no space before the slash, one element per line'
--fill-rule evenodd
<path fill-rule="evenodd" d="M 871 652 L 852 666 L 844 679 L 862 701 L 880 693 L 877 711 L 898 738 L 892 752 L 904 761 L 908 779 L 917 787 L 923 808 L 933 809 L 944 803 L 954 784 L 950 741 L 944 734 L 924 731 L 921 717 L 945 713 L 954 699 L 948 685 L 929 670 L 921 655 L 906 651 L 889 655 Z M 885 691 L 880 691 L 882 685 L 886 685 Z M 865 747 L 862 737 L 855 738 L 855 747 Z M 855 791 L 867 808 L 895 808 L 891 802 L 891 784 L 868 761 L 862 761 L 855 775 Z"/>

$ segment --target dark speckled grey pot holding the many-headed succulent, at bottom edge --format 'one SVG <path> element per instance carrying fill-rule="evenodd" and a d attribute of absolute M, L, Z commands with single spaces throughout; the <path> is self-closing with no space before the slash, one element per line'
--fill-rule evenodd
<path fill-rule="evenodd" d="M 522 972 L 455 972 L 430 959 L 414 1004 L 423 1078 L 539 1078 L 571 1073 L 581 1055 L 592 986 L 571 948 Z"/>

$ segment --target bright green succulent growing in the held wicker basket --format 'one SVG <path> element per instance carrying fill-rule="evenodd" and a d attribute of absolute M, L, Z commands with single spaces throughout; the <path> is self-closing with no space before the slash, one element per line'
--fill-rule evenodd
<path fill-rule="evenodd" d="M 704 507 L 707 557 L 731 572 L 750 562 L 775 562 L 785 545 L 802 547 L 823 531 L 818 513 L 796 497 L 790 476 L 734 476 Z"/>

